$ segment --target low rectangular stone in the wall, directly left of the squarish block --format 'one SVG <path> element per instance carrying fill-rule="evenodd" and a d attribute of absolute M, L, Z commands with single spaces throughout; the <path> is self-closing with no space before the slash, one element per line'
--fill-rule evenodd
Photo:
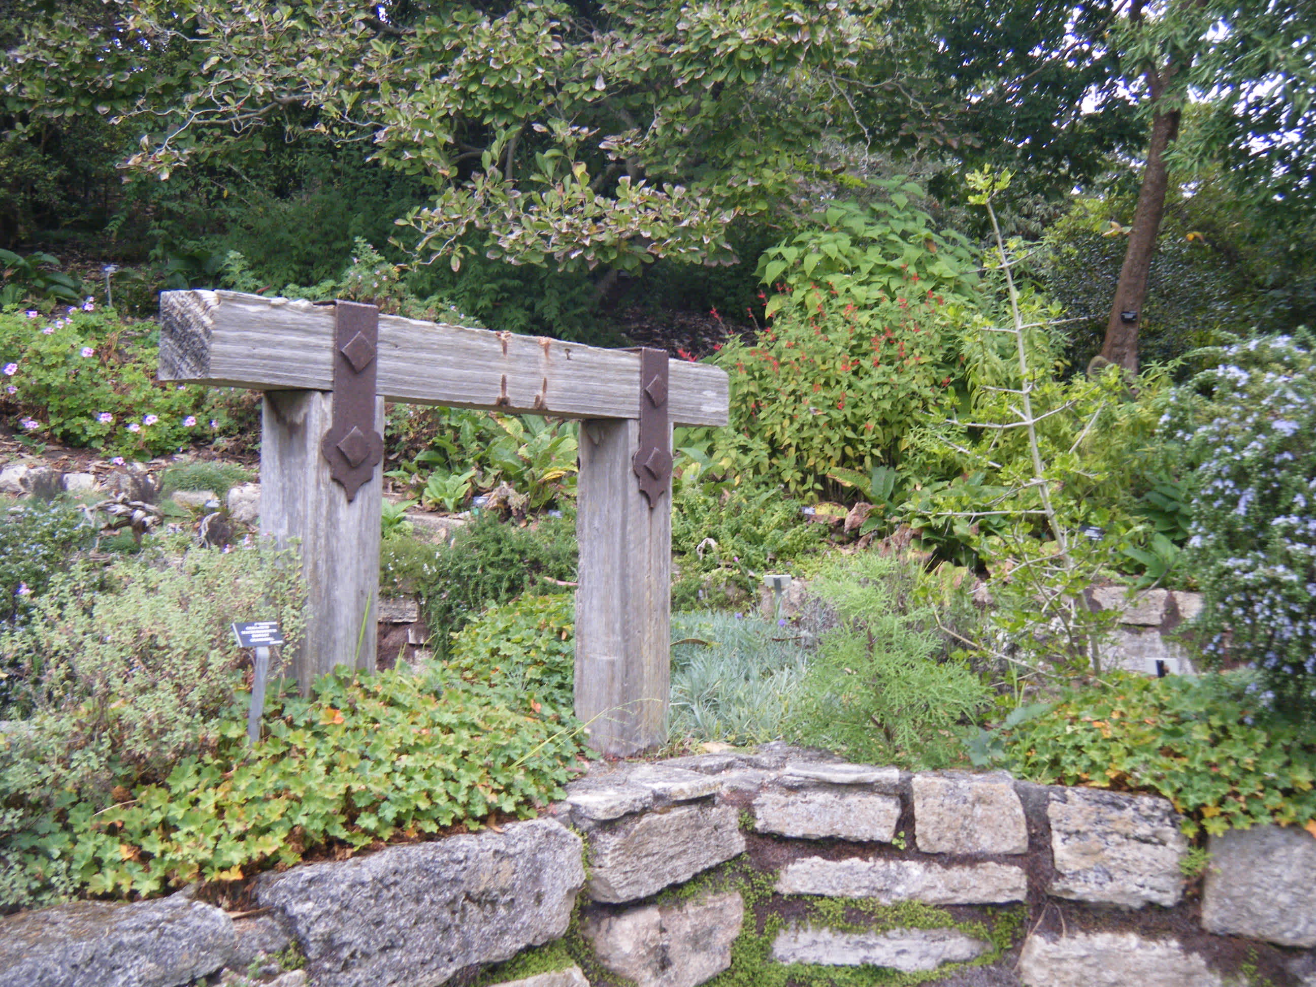
<path fill-rule="evenodd" d="M 801 840 L 890 844 L 900 821 L 900 799 L 850 786 L 765 791 L 754 799 L 754 829 Z"/>

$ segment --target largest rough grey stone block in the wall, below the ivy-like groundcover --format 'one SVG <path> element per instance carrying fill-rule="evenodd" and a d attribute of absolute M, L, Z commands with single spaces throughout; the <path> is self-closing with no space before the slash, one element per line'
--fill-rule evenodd
<path fill-rule="evenodd" d="M 316 987 L 430 987 L 567 930 L 580 838 L 538 819 L 261 878 Z"/>

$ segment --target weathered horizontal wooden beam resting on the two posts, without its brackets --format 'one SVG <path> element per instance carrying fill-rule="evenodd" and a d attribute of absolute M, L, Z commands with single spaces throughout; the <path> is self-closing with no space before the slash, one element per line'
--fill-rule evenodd
<path fill-rule="evenodd" d="M 259 391 L 333 388 L 334 308 L 233 291 L 161 293 L 161 380 Z M 379 393 L 565 418 L 637 418 L 640 357 L 625 350 L 399 316 L 379 317 Z M 669 418 L 725 425 L 720 367 L 672 361 Z"/>

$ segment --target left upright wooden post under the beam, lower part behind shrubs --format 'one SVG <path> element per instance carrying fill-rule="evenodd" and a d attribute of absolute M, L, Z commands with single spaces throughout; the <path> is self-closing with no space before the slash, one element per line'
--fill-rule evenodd
<path fill-rule="evenodd" d="M 303 692 L 337 665 L 375 669 L 383 471 L 347 501 L 329 476 L 320 438 L 333 420 L 324 391 L 266 391 L 261 426 L 261 533 L 297 540 L 307 583 L 307 633 L 291 655 Z M 384 430 L 384 403 L 375 401 Z"/>

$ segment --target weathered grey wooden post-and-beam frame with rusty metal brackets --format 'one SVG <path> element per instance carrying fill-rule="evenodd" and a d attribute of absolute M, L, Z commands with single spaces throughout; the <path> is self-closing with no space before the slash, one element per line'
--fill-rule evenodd
<path fill-rule="evenodd" d="M 666 740 L 671 425 L 725 425 L 717 368 L 229 291 L 161 295 L 161 380 L 263 392 L 261 532 L 301 546 L 303 688 L 374 670 L 384 401 L 580 420 L 575 709 L 588 742 Z"/>

